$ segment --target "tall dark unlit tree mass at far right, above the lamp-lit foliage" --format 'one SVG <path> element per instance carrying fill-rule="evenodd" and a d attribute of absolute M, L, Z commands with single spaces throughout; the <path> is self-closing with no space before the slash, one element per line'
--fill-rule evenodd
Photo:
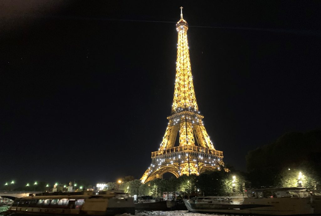
<path fill-rule="evenodd" d="M 280 184 L 291 185 L 282 180 L 284 169 L 304 168 L 313 175 L 311 183 L 321 181 L 321 131 L 314 130 L 306 133 L 291 132 L 282 135 L 275 142 L 248 152 L 246 156 L 247 171 L 252 187 L 269 187 Z M 293 183 L 293 182 L 292 182 Z M 308 184 L 308 185 L 309 185 Z M 292 184 L 293 185 L 293 184 Z"/>

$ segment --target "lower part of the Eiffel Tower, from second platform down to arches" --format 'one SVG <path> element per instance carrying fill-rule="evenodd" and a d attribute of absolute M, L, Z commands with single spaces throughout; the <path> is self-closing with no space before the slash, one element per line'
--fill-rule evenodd
<path fill-rule="evenodd" d="M 223 152 L 214 149 L 203 125 L 203 117 L 197 110 L 180 108 L 167 117 L 169 120 L 158 151 L 152 152 L 152 164 L 141 178 L 142 182 L 162 178 L 166 172 L 181 175 L 199 175 L 206 170 L 219 170 Z M 179 134 L 179 146 L 174 147 Z M 196 144 L 195 140 L 196 138 Z"/>

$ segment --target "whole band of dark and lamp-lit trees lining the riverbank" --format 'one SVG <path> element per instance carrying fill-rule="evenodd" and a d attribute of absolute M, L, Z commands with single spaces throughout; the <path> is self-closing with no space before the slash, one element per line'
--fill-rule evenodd
<path fill-rule="evenodd" d="M 155 179 L 144 184 L 133 176 L 108 182 L 104 189 L 120 189 L 129 195 L 162 197 L 163 192 L 183 191 L 189 195 L 230 196 L 244 194 L 246 188 L 305 187 L 321 189 L 321 130 L 290 132 L 271 144 L 248 152 L 247 172 L 225 165 L 217 171 L 201 175 L 182 175 L 179 178 Z M 226 169 L 227 168 L 227 169 Z M 229 170 L 228 172 L 224 170 Z M 37 183 L 37 182 L 35 182 Z M 69 183 L 56 184 L 57 191 L 67 191 Z M 74 190 L 93 186 L 84 180 L 73 182 Z M 14 188 L 4 185 L 2 190 L 52 191 L 46 182 Z"/>

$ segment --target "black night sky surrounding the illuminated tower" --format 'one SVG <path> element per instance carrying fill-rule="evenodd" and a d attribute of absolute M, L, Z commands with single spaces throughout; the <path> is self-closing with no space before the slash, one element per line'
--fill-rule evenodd
<path fill-rule="evenodd" d="M 140 178 L 173 100 L 183 6 L 224 161 L 320 129 L 320 1 L 2 1 L 0 183 Z"/>

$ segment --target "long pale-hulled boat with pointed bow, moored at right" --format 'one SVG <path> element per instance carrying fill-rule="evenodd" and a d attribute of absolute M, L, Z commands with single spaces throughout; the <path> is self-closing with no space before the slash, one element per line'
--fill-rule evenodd
<path fill-rule="evenodd" d="M 267 188 L 247 191 L 246 196 L 200 196 L 186 199 L 190 212 L 263 215 L 320 214 L 321 196 L 306 188 Z"/>

